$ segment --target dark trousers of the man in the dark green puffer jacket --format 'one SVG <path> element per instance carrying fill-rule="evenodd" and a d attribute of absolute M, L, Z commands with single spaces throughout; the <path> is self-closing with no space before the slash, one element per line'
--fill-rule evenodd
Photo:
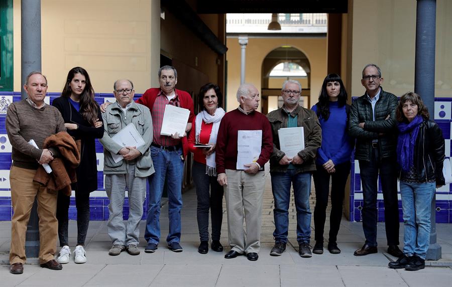
<path fill-rule="evenodd" d="M 377 182 L 380 174 L 387 243 L 388 245 L 399 245 L 399 204 L 395 159 L 380 159 L 378 149 L 372 149 L 370 161 L 360 161 L 360 174 L 363 185 L 362 214 L 366 243 L 369 246 L 377 246 Z"/>

